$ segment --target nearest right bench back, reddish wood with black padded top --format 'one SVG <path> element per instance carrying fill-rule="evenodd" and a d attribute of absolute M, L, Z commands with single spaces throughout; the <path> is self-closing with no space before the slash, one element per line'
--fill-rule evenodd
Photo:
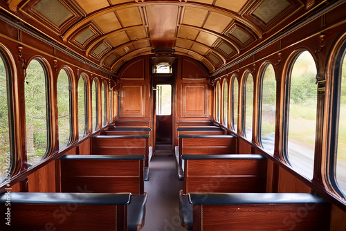
<path fill-rule="evenodd" d="M 192 230 L 329 230 L 330 204 L 304 193 L 193 193 Z"/>

